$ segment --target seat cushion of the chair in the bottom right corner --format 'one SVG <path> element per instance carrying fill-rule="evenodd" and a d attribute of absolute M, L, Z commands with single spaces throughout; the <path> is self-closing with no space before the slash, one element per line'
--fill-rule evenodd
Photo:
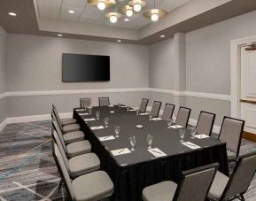
<path fill-rule="evenodd" d="M 213 179 L 211 189 L 209 190 L 208 197 L 210 197 L 213 200 L 220 200 L 221 195 L 228 182 L 229 177 L 217 171 Z"/>

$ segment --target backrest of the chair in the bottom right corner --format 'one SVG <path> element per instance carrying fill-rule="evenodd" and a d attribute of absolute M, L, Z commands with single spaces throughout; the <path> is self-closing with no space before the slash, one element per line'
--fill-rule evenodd
<path fill-rule="evenodd" d="M 238 194 L 244 194 L 249 188 L 256 170 L 256 152 L 238 158 L 237 165 L 223 191 L 221 200 L 228 200 Z"/>

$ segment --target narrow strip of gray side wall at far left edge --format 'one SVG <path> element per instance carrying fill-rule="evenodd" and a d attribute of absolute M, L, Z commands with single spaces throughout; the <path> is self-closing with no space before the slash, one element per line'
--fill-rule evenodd
<path fill-rule="evenodd" d="M 0 94 L 6 91 L 6 50 L 7 50 L 7 33 L 0 26 Z M 6 98 L 0 99 L 0 123 L 7 117 Z"/>

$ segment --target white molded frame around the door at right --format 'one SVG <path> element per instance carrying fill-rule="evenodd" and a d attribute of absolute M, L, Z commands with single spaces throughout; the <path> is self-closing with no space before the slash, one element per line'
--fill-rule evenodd
<path fill-rule="evenodd" d="M 256 43 L 256 35 L 231 41 L 231 116 L 240 118 L 241 48 Z"/>

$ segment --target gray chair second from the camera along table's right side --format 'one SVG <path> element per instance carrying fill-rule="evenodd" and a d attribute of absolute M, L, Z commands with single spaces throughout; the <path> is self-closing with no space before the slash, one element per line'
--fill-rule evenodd
<path fill-rule="evenodd" d="M 196 127 L 198 134 L 212 135 L 215 116 L 216 114 L 211 112 L 200 112 Z"/>

